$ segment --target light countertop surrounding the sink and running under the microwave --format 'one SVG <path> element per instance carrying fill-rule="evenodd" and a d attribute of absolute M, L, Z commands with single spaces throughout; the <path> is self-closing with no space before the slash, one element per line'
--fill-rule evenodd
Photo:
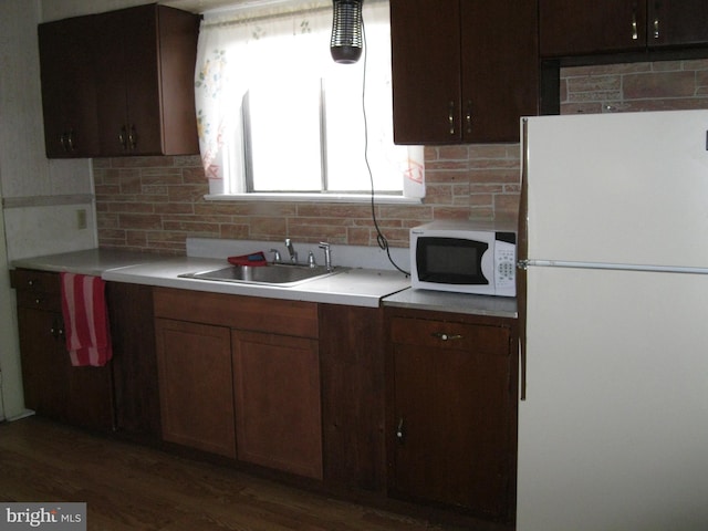
<path fill-rule="evenodd" d="M 517 300 L 410 289 L 410 279 L 392 270 L 342 268 L 336 274 L 293 287 L 217 282 L 179 278 L 180 274 L 228 266 L 223 258 L 165 257 L 111 249 L 49 254 L 12 262 L 13 268 L 73 272 L 106 281 L 178 288 L 329 304 L 420 310 L 517 317 Z"/>

